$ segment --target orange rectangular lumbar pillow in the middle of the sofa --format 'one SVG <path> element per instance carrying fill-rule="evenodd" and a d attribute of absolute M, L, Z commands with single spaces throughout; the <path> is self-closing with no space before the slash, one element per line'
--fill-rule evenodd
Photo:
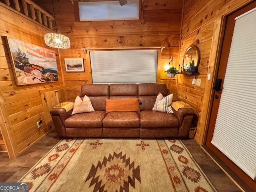
<path fill-rule="evenodd" d="M 106 99 L 106 113 L 109 112 L 140 112 L 139 98 Z"/>

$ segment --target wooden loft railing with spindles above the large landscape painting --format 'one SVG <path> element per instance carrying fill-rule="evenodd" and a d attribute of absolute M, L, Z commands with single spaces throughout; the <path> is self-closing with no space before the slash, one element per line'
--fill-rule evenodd
<path fill-rule="evenodd" d="M 52 30 L 52 20 L 54 20 L 54 17 L 31 0 L 0 0 L 0 2 L 6 8 L 12 8 Z"/>

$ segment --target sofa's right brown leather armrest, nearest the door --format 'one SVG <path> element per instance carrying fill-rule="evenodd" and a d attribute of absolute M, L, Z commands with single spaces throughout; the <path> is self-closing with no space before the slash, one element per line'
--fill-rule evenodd
<path fill-rule="evenodd" d="M 176 111 L 172 108 L 173 114 L 178 118 L 179 127 L 179 137 L 188 137 L 190 125 L 194 117 L 194 110 L 192 108 L 180 108 Z"/>

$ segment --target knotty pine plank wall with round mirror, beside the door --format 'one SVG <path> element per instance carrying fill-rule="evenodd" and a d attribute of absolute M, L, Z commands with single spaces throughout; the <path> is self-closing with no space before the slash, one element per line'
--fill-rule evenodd
<path fill-rule="evenodd" d="M 192 76 L 179 75 L 177 95 L 180 100 L 193 106 L 199 118 L 195 139 L 203 143 L 206 132 L 208 109 L 212 98 L 212 85 L 220 39 L 222 16 L 237 10 L 251 0 L 184 0 L 184 16 L 180 54 L 190 45 L 195 45 L 201 53 L 201 60 L 196 76 L 201 79 L 201 86 L 192 84 Z M 210 81 L 207 80 L 211 73 Z"/>

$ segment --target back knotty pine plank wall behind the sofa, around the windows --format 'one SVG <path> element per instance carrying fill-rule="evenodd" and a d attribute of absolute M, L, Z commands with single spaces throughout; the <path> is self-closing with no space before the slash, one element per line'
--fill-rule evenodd
<path fill-rule="evenodd" d="M 50 12 L 44 2 L 36 1 Z M 167 78 L 164 66 L 170 56 L 174 56 L 177 66 L 179 56 L 180 27 L 182 18 L 182 0 L 144 0 L 143 19 L 138 21 L 94 21 L 76 22 L 74 6 L 70 0 L 54 1 L 54 11 L 58 31 L 70 38 L 71 47 L 60 50 L 60 59 L 68 98 L 72 100 L 80 95 L 82 84 L 92 84 L 88 53 L 81 48 L 117 48 L 166 46 L 158 64 L 158 82 L 166 83 L 170 92 L 176 94 L 177 76 Z M 85 72 L 66 72 L 64 58 L 84 58 Z"/>

